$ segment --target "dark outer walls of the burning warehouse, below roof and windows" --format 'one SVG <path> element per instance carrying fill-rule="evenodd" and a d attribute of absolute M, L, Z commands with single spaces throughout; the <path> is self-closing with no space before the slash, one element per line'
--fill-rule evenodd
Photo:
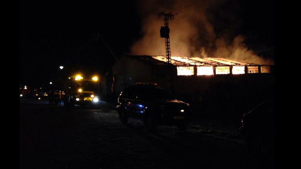
<path fill-rule="evenodd" d="M 115 80 L 112 93 L 115 95 L 114 99 L 126 86 L 134 85 L 136 82 L 157 83 L 162 88 L 169 88 L 166 73 L 167 68 L 164 65 L 148 64 L 123 56 L 112 67 L 112 76 Z M 247 97 L 265 92 L 274 85 L 273 73 L 178 76 L 176 66 L 173 66 L 172 75 L 175 94 L 188 102 Z"/>

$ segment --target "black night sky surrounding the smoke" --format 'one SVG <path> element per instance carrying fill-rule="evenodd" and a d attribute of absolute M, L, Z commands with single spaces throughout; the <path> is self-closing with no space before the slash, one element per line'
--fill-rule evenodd
<path fill-rule="evenodd" d="M 232 8 L 237 2 L 229 0 L 217 6 L 214 14 L 239 17 L 239 33 L 246 36 L 247 45 L 254 51 L 262 49 L 262 45 L 256 46 L 258 41 L 264 41 L 266 48 L 274 47 L 274 1 L 239 1 L 240 6 Z M 97 33 L 117 57 L 129 52 L 130 46 L 141 37 L 141 18 L 135 0 L 27 0 L 19 5 L 22 84 L 48 81 L 60 64 L 88 65 L 104 72 L 115 59 L 103 41 L 97 40 Z M 222 30 L 216 30 L 219 31 Z"/>

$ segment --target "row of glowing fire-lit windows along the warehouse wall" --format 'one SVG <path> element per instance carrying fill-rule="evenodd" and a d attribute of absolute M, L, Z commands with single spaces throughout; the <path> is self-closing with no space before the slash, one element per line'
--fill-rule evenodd
<path fill-rule="evenodd" d="M 261 73 L 270 73 L 270 66 L 260 66 Z M 247 66 L 247 73 L 259 73 L 258 66 Z M 230 66 L 216 66 L 216 75 L 230 74 Z M 245 74 L 245 66 L 232 66 L 232 74 Z M 193 66 L 177 66 L 177 75 L 194 75 Z M 213 75 L 213 66 L 197 66 L 197 75 Z"/>

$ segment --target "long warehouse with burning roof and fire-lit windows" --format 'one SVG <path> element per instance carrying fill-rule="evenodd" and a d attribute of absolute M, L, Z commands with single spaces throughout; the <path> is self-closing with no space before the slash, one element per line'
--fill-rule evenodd
<path fill-rule="evenodd" d="M 262 92 L 273 84 L 272 65 L 213 57 L 171 57 L 171 63 L 175 94 L 186 100 L 213 96 L 225 90 Z M 106 73 L 104 95 L 113 93 L 116 97 L 124 87 L 137 82 L 156 83 L 160 87 L 169 88 L 167 70 L 165 56 L 124 55 Z"/>

